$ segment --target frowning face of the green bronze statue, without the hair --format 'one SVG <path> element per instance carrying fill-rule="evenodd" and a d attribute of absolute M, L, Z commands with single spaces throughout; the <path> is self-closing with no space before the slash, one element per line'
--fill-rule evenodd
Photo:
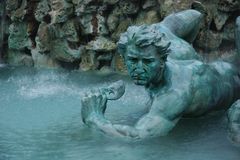
<path fill-rule="evenodd" d="M 155 46 L 140 48 L 129 45 L 124 59 L 135 84 L 148 85 L 161 80 L 165 62 L 160 58 Z"/>

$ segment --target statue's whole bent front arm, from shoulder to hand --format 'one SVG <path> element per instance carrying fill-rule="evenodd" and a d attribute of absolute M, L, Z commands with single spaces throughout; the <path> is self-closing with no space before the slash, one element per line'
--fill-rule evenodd
<path fill-rule="evenodd" d="M 93 91 L 82 100 L 82 119 L 90 127 L 120 137 L 146 138 L 167 134 L 181 118 L 187 107 L 184 90 L 170 90 L 156 97 L 150 111 L 135 126 L 112 124 L 104 117 L 106 97 Z"/>

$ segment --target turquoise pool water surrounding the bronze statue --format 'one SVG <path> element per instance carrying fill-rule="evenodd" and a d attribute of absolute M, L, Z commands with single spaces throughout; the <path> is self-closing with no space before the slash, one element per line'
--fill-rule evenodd
<path fill-rule="evenodd" d="M 0 160 L 239 160 L 227 139 L 226 114 L 182 119 L 166 137 L 131 141 L 83 125 L 81 96 L 123 79 L 126 94 L 106 116 L 134 124 L 146 112 L 143 88 L 118 74 L 0 68 Z"/>

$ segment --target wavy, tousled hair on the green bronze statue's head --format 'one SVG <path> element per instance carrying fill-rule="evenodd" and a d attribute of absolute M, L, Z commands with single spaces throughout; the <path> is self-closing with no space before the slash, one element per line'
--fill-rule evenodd
<path fill-rule="evenodd" d="M 124 57 L 127 46 L 132 44 L 140 48 L 154 45 L 160 56 L 166 59 L 171 42 L 160 32 L 156 24 L 152 24 L 129 27 L 118 41 L 118 52 Z"/>

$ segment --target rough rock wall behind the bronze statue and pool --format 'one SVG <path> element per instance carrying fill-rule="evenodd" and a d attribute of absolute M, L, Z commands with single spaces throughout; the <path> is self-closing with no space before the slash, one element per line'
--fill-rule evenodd
<path fill-rule="evenodd" d="M 116 42 L 130 25 L 152 24 L 194 8 L 205 15 L 194 46 L 231 52 L 240 0 L 1 0 L 7 11 L 4 58 L 13 65 L 124 70 Z M 0 37 L 1 38 L 1 37 Z"/>

